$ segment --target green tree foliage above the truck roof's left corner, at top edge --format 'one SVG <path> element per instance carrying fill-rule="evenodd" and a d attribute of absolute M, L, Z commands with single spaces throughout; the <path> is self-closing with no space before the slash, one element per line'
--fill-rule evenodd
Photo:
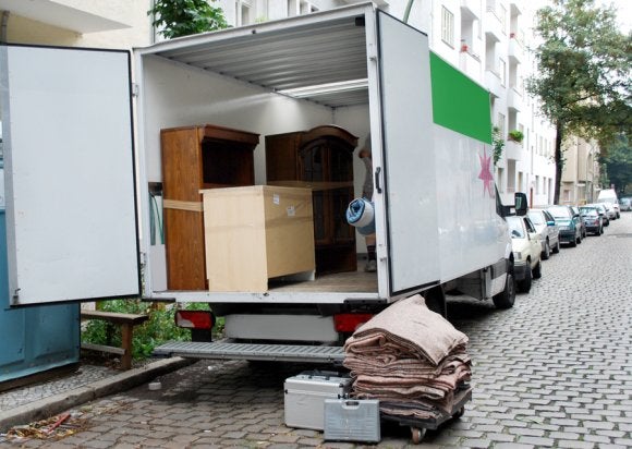
<path fill-rule="evenodd" d="M 167 39 L 228 28 L 223 11 L 210 2 L 215 0 L 156 0 L 147 15 Z"/>

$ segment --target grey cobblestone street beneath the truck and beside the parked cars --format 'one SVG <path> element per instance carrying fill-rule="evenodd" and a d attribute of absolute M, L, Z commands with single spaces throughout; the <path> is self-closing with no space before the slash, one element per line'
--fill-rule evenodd
<path fill-rule="evenodd" d="M 632 447 L 631 303 L 632 213 L 544 262 L 542 279 L 511 310 L 451 298 L 449 318 L 470 337 L 474 396 L 460 420 L 428 430 L 420 447 Z M 284 426 L 283 380 L 304 368 L 202 361 L 162 376 L 160 390 L 145 384 L 77 408 L 75 435 L 22 444 L 364 447 Z M 408 427 L 382 425 L 377 447 L 412 446 Z"/>

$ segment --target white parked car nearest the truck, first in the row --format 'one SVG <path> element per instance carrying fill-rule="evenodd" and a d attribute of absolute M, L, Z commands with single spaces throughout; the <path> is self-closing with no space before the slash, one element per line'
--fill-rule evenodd
<path fill-rule="evenodd" d="M 526 293 L 531 290 L 532 279 L 542 277 L 542 239 L 531 219 L 526 216 L 507 217 L 511 251 L 513 252 L 513 275 L 518 291 Z"/>

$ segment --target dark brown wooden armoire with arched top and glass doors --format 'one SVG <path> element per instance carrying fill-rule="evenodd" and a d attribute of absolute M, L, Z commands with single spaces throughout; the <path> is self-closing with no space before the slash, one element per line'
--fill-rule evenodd
<path fill-rule="evenodd" d="M 268 184 L 313 191 L 316 274 L 355 271 L 355 229 L 345 211 L 353 194 L 357 137 L 335 125 L 266 136 Z"/>

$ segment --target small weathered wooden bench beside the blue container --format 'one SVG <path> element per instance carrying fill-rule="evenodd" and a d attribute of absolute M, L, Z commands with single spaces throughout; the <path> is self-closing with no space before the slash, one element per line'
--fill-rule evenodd
<path fill-rule="evenodd" d="M 121 326 L 122 348 L 106 344 L 82 343 L 82 349 L 121 355 L 121 368 L 130 369 L 132 367 L 132 338 L 134 336 L 134 326 L 145 323 L 149 319 L 149 316 L 83 310 L 81 311 L 81 316 L 82 320 L 101 319 Z"/>

